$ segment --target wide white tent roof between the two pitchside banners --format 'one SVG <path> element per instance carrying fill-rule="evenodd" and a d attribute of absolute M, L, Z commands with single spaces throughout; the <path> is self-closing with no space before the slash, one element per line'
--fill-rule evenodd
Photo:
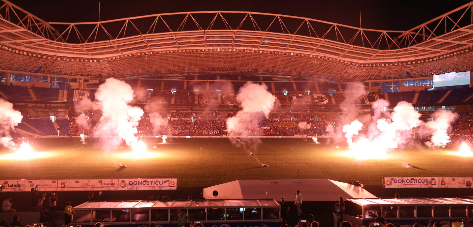
<path fill-rule="evenodd" d="M 216 199 L 262 199 L 268 198 L 295 201 L 296 190 L 300 190 L 304 201 L 335 201 L 343 199 L 377 198 L 362 187 L 329 179 L 299 180 L 236 180 L 204 188 L 204 197 L 214 198 L 212 192 L 219 195 Z"/>

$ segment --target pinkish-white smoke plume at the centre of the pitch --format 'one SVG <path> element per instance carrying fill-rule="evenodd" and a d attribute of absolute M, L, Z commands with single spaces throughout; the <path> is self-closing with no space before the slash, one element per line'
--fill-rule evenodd
<path fill-rule="evenodd" d="M 227 119 L 228 135 L 251 136 L 258 130 L 258 120 L 269 116 L 276 97 L 268 91 L 264 83 L 260 85 L 248 81 L 239 90 L 242 92 L 238 94 L 237 100 L 241 103 L 242 110 Z M 236 143 L 236 140 L 232 142 Z M 239 146 L 240 143 L 236 145 Z"/>

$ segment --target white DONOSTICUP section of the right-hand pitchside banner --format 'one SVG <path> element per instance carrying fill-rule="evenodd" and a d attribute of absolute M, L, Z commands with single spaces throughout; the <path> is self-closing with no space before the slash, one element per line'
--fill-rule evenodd
<path fill-rule="evenodd" d="M 438 188 L 438 177 L 384 177 L 385 188 Z"/>

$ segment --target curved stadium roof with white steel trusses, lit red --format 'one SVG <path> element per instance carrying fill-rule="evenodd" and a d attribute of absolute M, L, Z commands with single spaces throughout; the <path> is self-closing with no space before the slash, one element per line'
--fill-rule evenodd
<path fill-rule="evenodd" d="M 396 31 L 242 11 L 46 22 L 0 1 L 4 70 L 94 79 L 247 73 L 352 81 L 473 67 L 473 2 Z"/>

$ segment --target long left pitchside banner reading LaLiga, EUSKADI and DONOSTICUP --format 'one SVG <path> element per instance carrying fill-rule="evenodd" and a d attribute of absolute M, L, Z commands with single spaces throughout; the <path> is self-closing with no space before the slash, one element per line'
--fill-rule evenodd
<path fill-rule="evenodd" d="M 176 190 L 177 178 L 0 180 L 5 192 Z"/>

